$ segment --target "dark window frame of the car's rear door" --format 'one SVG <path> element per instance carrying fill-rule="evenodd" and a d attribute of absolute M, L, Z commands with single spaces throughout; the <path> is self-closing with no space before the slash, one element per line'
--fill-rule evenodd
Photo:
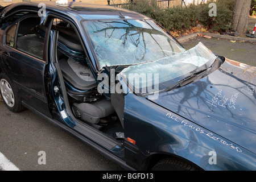
<path fill-rule="evenodd" d="M 19 49 L 16 48 L 16 42 L 17 42 L 17 38 L 18 38 L 18 29 L 19 29 L 19 26 L 20 26 L 20 22 L 21 22 L 22 20 L 26 19 L 26 18 L 33 17 L 33 16 L 34 16 L 34 17 L 38 16 L 38 15 L 37 15 L 38 11 L 34 11 L 34 10 L 24 10 L 24 9 L 23 9 L 23 10 L 15 11 L 15 12 L 12 13 L 11 15 L 9 15 L 9 18 L 11 18 L 11 17 L 13 17 L 13 15 L 15 15 L 15 14 L 17 14 L 17 13 L 19 13 L 19 12 L 26 12 L 26 11 L 28 12 L 27 14 L 22 15 L 20 18 L 16 19 L 13 23 L 11 23 L 11 24 L 9 25 L 9 27 L 7 27 L 7 29 L 6 29 L 6 31 L 5 31 L 5 34 L 4 34 L 4 36 L 3 36 L 3 40 L 4 40 L 4 41 L 3 41 L 3 46 L 8 47 L 8 48 L 10 48 L 10 49 L 13 49 L 13 50 L 15 50 L 16 52 L 22 53 L 22 54 L 25 55 L 25 56 L 31 57 L 32 59 L 34 59 L 34 60 L 36 60 L 36 61 L 39 61 L 39 62 L 41 62 L 41 63 L 48 63 L 48 59 L 47 59 L 47 56 L 46 56 L 46 46 L 47 46 L 47 44 L 48 44 L 48 39 L 49 39 L 49 36 L 47 36 L 47 35 L 48 35 L 48 27 L 47 27 L 46 36 L 44 36 L 43 57 L 42 57 L 42 59 L 40 59 L 40 58 L 38 58 L 38 57 L 35 57 L 35 56 L 33 56 L 33 55 L 30 55 L 30 54 L 28 54 L 28 53 L 26 53 L 26 52 L 20 51 Z M 6 35 L 7 35 L 7 32 L 9 32 L 10 28 L 13 27 L 13 26 L 15 26 L 15 24 L 16 24 L 16 28 L 15 28 L 14 46 L 11 47 L 11 46 L 9 46 L 9 45 L 6 44 Z M 41 22 L 40 22 L 39 24 L 41 24 Z"/>

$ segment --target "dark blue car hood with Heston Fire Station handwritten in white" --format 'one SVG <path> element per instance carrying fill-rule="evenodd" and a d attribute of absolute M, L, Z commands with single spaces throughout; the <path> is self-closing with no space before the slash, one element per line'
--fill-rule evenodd
<path fill-rule="evenodd" d="M 216 71 L 152 100 L 256 154 L 256 67 L 226 59 Z"/>

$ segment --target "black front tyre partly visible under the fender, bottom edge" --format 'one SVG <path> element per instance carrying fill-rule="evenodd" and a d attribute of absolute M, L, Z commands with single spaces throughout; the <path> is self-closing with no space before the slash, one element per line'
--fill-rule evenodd
<path fill-rule="evenodd" d="M 160 160 L 152 171 L 197 171 L 197 169 L 183 160 L 168 158 Z"/>

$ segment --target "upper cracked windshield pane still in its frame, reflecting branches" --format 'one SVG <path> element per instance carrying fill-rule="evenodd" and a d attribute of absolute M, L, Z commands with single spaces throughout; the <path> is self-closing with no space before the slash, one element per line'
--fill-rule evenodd
<path fill-rule="evenodd" d="M 100 69 L 147 63 L 184 49 L 151 20 L 84 21 Z"/>

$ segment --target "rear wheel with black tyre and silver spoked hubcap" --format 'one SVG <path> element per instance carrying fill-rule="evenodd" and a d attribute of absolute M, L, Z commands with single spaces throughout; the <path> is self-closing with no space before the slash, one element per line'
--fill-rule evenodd
<path fill-rule="evenodd" d="M 22 105 L 22 100 L 18 96 L 13 83 L 6 73 L 0 73 L 0 93 L 3 102 L 10 111 L 18 113 L 25 109 L 25 107 Z"/>

